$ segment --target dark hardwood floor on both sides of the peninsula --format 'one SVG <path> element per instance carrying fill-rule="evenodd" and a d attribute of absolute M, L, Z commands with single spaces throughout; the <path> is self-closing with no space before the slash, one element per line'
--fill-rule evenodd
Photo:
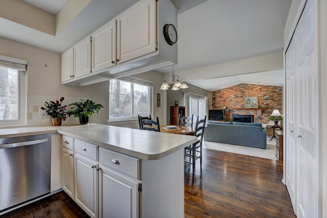
<path fill-rule="evenodd" d="M 185 218 L 296 217 L 282 178 L 281 161 L 203 149 L 202 169 L 185 165 Z M 1 217 L 88 215 L 61 191 Z"/>

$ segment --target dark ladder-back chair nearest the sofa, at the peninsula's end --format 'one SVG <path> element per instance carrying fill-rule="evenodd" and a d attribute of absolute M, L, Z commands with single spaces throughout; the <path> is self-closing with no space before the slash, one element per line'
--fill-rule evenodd
<path fill-rule="evenodd" d="M 195 168 L 195 161 L 200 159 L 200 166 L 202 166 L 202 141 L 203 141 L 203 134 L 205 129 L 205 122 L 206 122 L 206 115 L 204 119 L 199 120 L 199 116 L 197 116 L 197 121 L 195 125 L 195 132 L 194 136 L 198 138 L 198 140 L 191 144 L 190 146 L 185 148 L 184 151 L 184 158 L 189 158 L 189 161 L 185 160 L 185 163 L 192 164 L 193 171 Z"/>

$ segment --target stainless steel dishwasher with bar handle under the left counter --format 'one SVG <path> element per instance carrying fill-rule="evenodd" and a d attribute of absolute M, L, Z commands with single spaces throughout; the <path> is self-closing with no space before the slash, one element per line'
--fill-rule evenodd
<path fill-rule="evenodd" d="M 0 212 L 50 192 L 51 134 L 0 138 Z"/>

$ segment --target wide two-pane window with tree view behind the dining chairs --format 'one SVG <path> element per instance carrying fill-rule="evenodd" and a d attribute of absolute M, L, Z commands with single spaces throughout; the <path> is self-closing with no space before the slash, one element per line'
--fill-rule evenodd
<path fill-rule="evenodd" d="M 110 80 L 109 121 L 136 119 L 150 114 L 151 86 L 123 80 Z"/>

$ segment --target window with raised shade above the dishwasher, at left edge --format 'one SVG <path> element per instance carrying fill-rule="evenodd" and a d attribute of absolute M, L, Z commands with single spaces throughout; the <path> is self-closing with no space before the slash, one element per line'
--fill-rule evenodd
<path fill-rule="evenodd" d="M 26 125 L 24 60 L 0 56 L 0 126 Z"/>

